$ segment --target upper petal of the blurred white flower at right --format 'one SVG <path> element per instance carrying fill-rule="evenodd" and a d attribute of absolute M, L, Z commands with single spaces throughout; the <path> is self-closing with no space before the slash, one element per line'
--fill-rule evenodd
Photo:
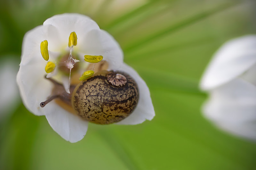
<path fill-rule="evenodd" d="M 243 74 L 256 63 L 256 36 L 244 36 L 228 41 L 213 56 L 200 87 L 213 89 Z"/>

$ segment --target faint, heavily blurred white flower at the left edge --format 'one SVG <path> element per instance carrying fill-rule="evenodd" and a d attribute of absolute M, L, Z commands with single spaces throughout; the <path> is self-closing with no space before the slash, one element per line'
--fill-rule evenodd
<path fill-rule="evenodd" d="M 10 56 L 4 56 L 0 62 L 0 121 L 14 109 L 19 103 L 19 91 L 16 84 L 18 63 Z"/>

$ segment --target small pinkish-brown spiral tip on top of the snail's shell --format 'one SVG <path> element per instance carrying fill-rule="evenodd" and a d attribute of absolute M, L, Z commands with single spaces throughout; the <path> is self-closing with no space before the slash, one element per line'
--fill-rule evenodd
<path fill-rule="evenodd" d="M 107 74 L 107 80 L 112 86 L 123 87 L 127 83 L 127 79 L 123 74 L 109 73 Z"/>

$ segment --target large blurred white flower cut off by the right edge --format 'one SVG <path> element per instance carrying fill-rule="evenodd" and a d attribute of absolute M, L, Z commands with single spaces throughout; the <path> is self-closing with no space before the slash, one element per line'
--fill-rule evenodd
<path fill-rule="evenodd" d="M 221 129 L 256 140 L 256 36 L 224 44 L 202 80 L 209 92 L 204 115 Z"/>

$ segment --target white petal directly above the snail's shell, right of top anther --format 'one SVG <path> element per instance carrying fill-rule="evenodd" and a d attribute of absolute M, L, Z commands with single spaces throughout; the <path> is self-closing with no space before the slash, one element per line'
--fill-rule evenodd
<path fill-rule="evenodd" d="M 120 68 L 123 63 L 123 51 L 116 40 L 104 30 L 92 30 L 87 33 L 80 47 L 88 55 L 102 55 L 110 68 Z"/>

